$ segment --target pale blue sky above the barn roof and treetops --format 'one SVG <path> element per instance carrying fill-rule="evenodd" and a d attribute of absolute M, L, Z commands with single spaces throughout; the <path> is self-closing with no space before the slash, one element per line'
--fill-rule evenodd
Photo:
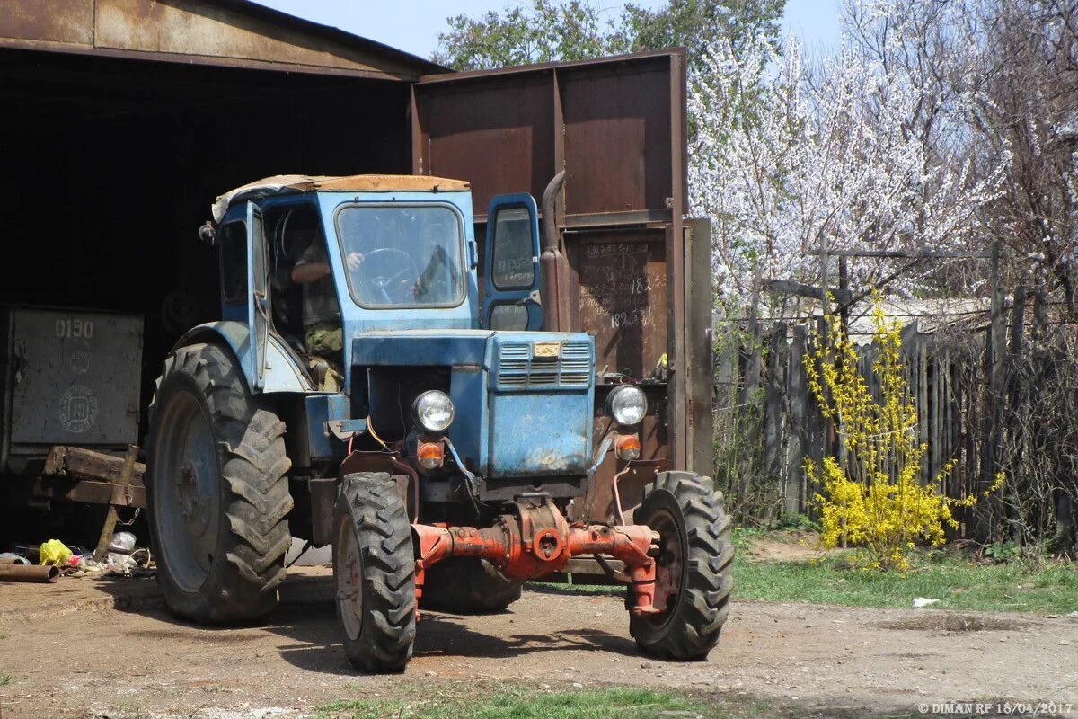
<path fill-rule="evenodd" d="M 355 34 L 377 40 L 415 55 L 430 57 L 438 47 L 438 33 L 445 29 L 450 15 L 475 17 L 488 10 L 502 10 L 512 0 L 255 0 L 286 13 L 322 25 L 331 25 Z M 635 0 L 636 4 L 655 8 L 663 0 Z M 810 47 L 827 49 L 837 44 L 838 0 L 788 0 L 786 28 Z M 622 3 L 597 0 L 614 12 Z"/>

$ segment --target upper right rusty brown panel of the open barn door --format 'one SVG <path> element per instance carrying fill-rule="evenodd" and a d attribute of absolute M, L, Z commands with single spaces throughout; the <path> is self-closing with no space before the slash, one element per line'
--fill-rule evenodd
<path fill-rule="evenodd" d="M 671 206 L 669 83 L 665 57 L 559 72 L 567 213 Z"/>

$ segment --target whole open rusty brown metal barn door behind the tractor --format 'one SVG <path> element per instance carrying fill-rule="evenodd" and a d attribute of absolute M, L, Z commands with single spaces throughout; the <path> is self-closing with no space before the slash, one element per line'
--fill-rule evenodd
<path fill-rule="evenodd" d="M 492 196 L 541 196 L 565 171 L 559 329 L 595 336 L 606 390 L 628 378 L 659 396 L 645 459 L 708 475 L 710 239 L 685 221 L 685 87 L 677 49 L 425 77 L 412 88 L 412 166 L 468 178 L 478 236 Z M 607 498 L 614 465 L 599 473 Z"/>

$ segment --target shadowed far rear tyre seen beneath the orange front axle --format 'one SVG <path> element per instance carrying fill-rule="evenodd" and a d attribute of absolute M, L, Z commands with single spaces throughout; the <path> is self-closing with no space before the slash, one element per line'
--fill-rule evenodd
<path fill-rule="evenodd" d="M 427 570 L 423 604 L 460 614 L 489 614 L 520 599 L 523 586 L 523 579 L 506 577 L 486 559 L 443 559 Z"/>

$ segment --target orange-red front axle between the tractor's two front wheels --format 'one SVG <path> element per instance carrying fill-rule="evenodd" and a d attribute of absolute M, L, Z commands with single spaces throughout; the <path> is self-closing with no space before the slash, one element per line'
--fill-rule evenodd
<path fill-rule="evenodd" d="M 476 528 L 413 524 L 419 548 L 416 596 L 423 596 L 427 568 L 448 557 L 478 556 L 508 577 L 536 579 L 565 569 L 580 555 L 605 555 L 625 564 L 636 599 L 634 614 L 654 614 L 665 608 L 657 602 L 655 561 L 659 536 L 644 525 L 569 525 L 552 502 L 516 503 L 516 514 L 503 514 L 493 527 Z"/>

